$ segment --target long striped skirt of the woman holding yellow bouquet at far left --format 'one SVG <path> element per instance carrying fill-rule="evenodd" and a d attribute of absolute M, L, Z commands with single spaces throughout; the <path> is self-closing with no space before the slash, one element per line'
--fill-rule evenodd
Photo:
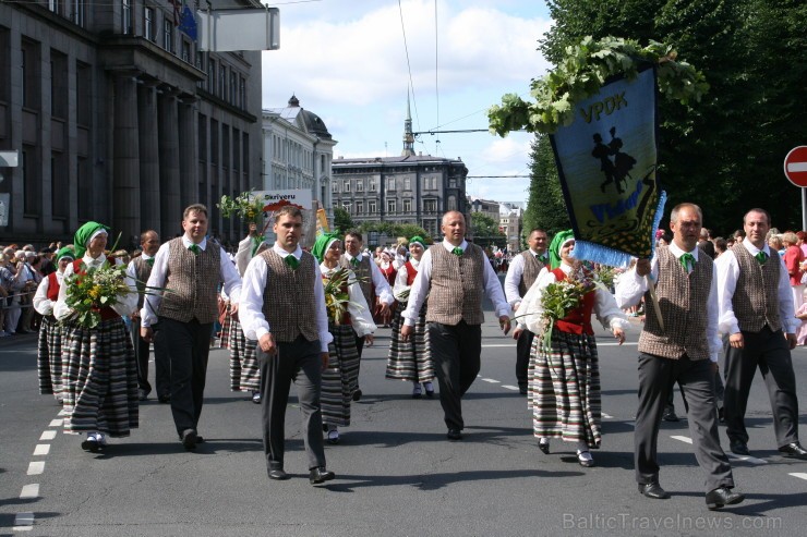
<path fill-rule="evenodd" d="M 127 437 L 137 427 L 137 364 L 120 318 L 62 333 L 64 430 Z"/>

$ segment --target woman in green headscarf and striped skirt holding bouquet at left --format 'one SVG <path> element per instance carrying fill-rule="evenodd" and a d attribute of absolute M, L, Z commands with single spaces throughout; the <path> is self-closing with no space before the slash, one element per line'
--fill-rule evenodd
<path fill-rule="evenodd" d="M 128 437 L 137 427 L 137 365 L 132 339 L 122 316 L 137 307 L 137 288 L 127 277 L 130 292 L 119 294 L 117 303 L 100 309 L 100 322 L 86 328 L 67 304 L 70 277 L 98 269 L 105 265 L 122 265 L 107 258 L 107 228 L 87 222 L 75 232 L 73 247 L 76 259 L 64 269 L 59 300 L 53 315 L 63 321 L 62 382 L 64 394 L 65 432 L 86 432 L 82 442 L 85 451 L 97 452 L 107 443 L 107 436 Z"/>

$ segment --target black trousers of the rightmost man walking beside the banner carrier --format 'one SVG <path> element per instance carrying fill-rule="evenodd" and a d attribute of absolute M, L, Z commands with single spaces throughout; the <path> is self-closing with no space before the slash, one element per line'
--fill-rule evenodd
<path fill-rule="evenodd" d="M 759 332 L 743 332 L 744 349 L 728 347 L 725 357 L 726 435 L 731 442 L 748 443 L 745 412 L 754 375 L 762 374 L 773 411 L 776 447 L 798 441 L 798 398 L 791 350 L 782 330 L 768 326 Z"/>

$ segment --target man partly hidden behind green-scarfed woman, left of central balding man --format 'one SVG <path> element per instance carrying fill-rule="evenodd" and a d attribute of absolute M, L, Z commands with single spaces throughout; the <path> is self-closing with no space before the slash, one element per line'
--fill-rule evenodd
<path fill-rule="evenodd" d="M 362 237 L 358 231 L 348 231 L 345 234 L 345 253 L 339 259 L 339 265 L 349 268 L 356 274 L 359 280 L 359 288 L 361 289 L 364 300 L 368 301 L 368 305 L 373 308 L 375 307 L 375 298 L 378 298 L 378 310 L 376 315 L 388 316 L 389 306 L 395 302 L 393 296 L 393 290 L 389 288 L 384 274 L 381 273 L 378 266 L 362 253 Z M 356 335 L 356 350 L 359 351 L 359 366 L 361 367 L 361 353 L 364 349 L 364 340 L 366 335 Z M 369 344 L 372 344 L 370 342 Z M 356 373 L 357 379 L 359 378 L 359 371 Z M 361 389 L 359 389 L 359 382 L 357 380 L 356 391 L 353 392 L 353 401 L 361 399 Z"/>

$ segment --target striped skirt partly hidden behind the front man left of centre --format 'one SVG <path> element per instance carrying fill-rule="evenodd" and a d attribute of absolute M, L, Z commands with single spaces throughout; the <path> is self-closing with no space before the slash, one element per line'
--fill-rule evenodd
<path fill-rule="evenodd" d="M 328 344 L 328 367 L 322 373 L 322 422 L 324 425 L 350 425 L 350 402 L 359 386 L 359 351 L 350 325 L 328 322 L 334 341 Z"/>

